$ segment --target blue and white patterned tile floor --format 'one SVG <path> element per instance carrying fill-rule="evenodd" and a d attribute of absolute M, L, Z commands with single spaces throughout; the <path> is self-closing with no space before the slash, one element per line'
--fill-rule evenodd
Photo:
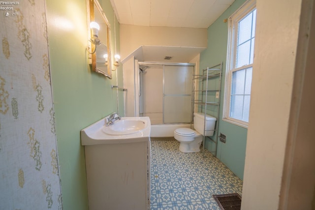
<path fill-rule="evenodd" d="M 213 194 L 242 195 L 242 181 L 209 151 L 178 148 L 174 139 L 151 139 L 151 210 L 220 210 Z"/>

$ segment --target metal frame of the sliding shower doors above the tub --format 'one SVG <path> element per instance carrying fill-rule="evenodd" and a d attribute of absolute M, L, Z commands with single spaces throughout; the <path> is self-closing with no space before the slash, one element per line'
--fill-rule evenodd
<path fill-rule="evenodd" d="M 193 67 L 193 72 L 192 72 L 192 76 L 195 74 L 195 63 L 173 63 L 173 62 L 150 62 L 150 61 L 147 61 L 147 62 L 138 62 L 138 66 L 140 68 L 140 65 L 157 65 L 157 66 L 163 66 L 163 81 L 162 81 L 162 85 L 163 85 L 163 106 L 162 106 L 162 124 L 192 124 L 192 112 L 190 112 L 190 122 L 167 122 L 165 123 L 165 119 L 164 119 L 164 115 L 165 115 L 165 96 L 168 96 L 165 94 L 165 66 L 192 66 Z M 142 90 L 142 88 L 140 87 L 140 72 L 138 72 L 138 90 Z M 143 90 L 142 90 L 143 91 Z M 139 94 L 138 96 L 140 97 L 140 91 L 139 91 Z M 178 96 L 191 96 L 192 98 L 192 94 L 178 94 Z M 193 107 L 190 107 L 191 109 L 194 109 Z M 139 110 L 140 110 L 140 103 L 139 103 Z M 139 114 L 140 114 L 140 111 L 139 111 Z"/>

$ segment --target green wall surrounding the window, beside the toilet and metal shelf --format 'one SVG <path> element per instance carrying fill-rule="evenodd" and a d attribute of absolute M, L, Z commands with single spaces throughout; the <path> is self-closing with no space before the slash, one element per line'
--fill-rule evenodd
<path fill-rule="evenodd" d="M 228 30 L 228 24 L 224 23 L 224 19 L 228 19 L 244 2 L 245 0 L 235 0 L 216 22 L 208 28 L 208 47 L 200 55 L 200 69 L 211 67 L 223 61 L 219 134 L 222 133 L 226 135 L 226 144 L 220 141 L 218 142 L 217 157 L 242 180 L 245 165 L 247 129 L 223 121 L 222 109 Z M 213 151 L 215 145 L 207 141 L 205 147 Z"/>

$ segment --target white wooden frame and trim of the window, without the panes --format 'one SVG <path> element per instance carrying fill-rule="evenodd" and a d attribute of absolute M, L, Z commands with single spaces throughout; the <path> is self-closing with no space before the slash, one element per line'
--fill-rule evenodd
<path fill-rule="evenodd" d="M 223 103 L 222 120 L 238 126 L 248 128 L 247 121 L 238 120 L 230 117 L 231 90 L 232 90 L 232 75 L 233 72 L 251 68 L 252 63 L 236 68 L 237 57 L 237 39 L 238 39 L 238 22 L 246 17 L 256 8 L 256 0 L 246 1 L 239 9 L 237 9 L 228 19 L 228 42 L 227 42 L 227 58 L 225 71 L 225 91 Z M 257 13 L 256 13 L 257 14 Z M 243 106 L 244 107 L 244 106 Z"/>

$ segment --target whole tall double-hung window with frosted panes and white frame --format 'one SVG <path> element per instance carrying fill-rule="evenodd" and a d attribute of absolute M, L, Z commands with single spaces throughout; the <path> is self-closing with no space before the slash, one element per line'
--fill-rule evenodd
<path fill-rule="evenodd" d="M 250 113 L 255 23 L 254 0 L 229 18 L 223 120 L 243 127 Z"/>

